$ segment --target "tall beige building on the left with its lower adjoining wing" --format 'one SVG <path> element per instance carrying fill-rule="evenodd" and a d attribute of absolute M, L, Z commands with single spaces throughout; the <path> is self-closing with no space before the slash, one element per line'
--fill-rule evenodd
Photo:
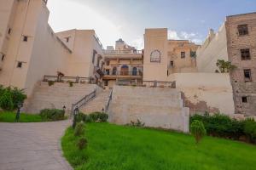
<path fill-rule="evenodd" d="M 103 49 L 94 31 L 55 34 L 44 0 L 0 1 L 0 83 L 30 96 L 45 75 L 102 80 Z M 88 48 L 84 48 L 88 47 Z"/>

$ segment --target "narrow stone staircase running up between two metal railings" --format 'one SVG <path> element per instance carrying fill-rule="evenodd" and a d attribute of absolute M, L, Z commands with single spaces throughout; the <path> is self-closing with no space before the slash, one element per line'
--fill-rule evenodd
<path fill-rule="evenodd" d="M 108 102 L 110 90 L 105 89 L 96 93 L 96 98 L 91 100 L 86 105 L 80 108 L 80 111 L 84 114 L 89 114 L 91 112 L 102 111 L 102 108 L 105 109 L 105 106 Z"/>

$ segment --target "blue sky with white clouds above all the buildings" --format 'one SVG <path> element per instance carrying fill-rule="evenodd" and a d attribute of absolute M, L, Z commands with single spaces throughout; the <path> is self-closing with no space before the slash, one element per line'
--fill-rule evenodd
<path fill-rule="evenodd" d="M 168 28 L 169 39 L 201 44 L 225 16 L 256 12 L 256 0 L 49 0 L 55 32 L 93 29 L 104 48 L 122 38 L 143 48 L 145 28 Z"/>

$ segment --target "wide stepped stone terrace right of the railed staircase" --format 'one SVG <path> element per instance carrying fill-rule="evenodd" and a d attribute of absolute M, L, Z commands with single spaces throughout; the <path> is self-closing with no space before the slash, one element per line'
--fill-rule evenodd
<path fill-rule="evenodd" d="M 189 132 L 189 108 L 173 88 L 113 87 L 109 122 L 127 124 L 140 120 L 147 127 Z"/>

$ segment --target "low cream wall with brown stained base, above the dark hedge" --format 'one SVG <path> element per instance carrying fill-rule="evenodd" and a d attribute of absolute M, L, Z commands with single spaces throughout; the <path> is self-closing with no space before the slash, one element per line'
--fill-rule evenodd
<path fill-rule="evenodd" d="M 190 113 L 208 111 L 232 115 L 235 112 L 229 74 L 176 73 L 169 81 L 176 81 Z"/>

